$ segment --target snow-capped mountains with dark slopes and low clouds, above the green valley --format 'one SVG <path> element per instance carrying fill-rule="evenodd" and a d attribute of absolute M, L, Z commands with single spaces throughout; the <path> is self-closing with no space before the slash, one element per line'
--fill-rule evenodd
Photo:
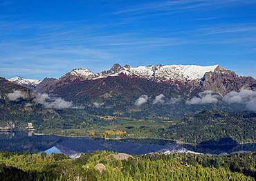
<path fill-rule="evenodd" d="M 19 96 L 18 100 L 40 98 L 36 103 L 44 108 L 82 108 L 92 115 L 179 117 L 212 109 L 256 110 L 253 106 L 256 80 L 218 65 L 133 68 L 114 64 L 100 73 L 76 68 L 59 79 L 46 77 L 39 81 L 15 77 L 5 82 L 13 85 L 1 90 L 1 97 L 8 97 L 4 92 L 12 93 L 23 87 L 31 96 Z M 38 98 L 42 94 L 45 96 Z"/>

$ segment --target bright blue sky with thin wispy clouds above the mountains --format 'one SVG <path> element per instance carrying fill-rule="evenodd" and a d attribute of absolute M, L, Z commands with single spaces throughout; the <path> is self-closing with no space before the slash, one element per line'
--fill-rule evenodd
<path fill-rule="evenodd" d="M 256 77 L 256 0 L 0 0 L 0 76 L 114 63 L 219 64 Z"/>

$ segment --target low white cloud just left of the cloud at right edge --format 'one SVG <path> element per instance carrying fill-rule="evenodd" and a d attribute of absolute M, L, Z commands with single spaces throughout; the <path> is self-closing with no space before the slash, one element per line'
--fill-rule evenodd
<path fill-rule="evenodd" d="M 199 97 L 188 99 L 186 104 L 212 104 L 217 103 L 221 98 L 219 95 L 214 94 L 212 90 L 205 90 L 199 93 Z"/>

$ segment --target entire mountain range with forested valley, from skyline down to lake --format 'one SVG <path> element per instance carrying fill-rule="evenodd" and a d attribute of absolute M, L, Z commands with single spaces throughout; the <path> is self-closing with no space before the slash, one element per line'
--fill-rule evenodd
<path fill-rule="evenodd" d="M 62 135 L 105 136 L 113 129 L 125 137 L 254 142 L 255 90 L 253 77 L 217 65 L 114 64 L 42 81 L 0 77 L 0 129 L 32 123 L 39 133 Z"/>

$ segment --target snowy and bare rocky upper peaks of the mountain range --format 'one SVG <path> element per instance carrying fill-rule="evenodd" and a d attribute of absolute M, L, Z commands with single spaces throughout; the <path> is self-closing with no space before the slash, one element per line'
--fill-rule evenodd
<path fill-rule="evenodd" d="M 255 90 L 256 81 L 253 77 L 239 76 L 231 70 L 221 66 L 195 66 L 195 65 L 157 65 L 120 66 L 114 64 L 110 70 L 93 73 L 87 68 L 76 68 L 59 79 L 45 78 L 42 81 L 14 77 L 9 79 L 21 86 L 34 88 L 39 92 L 55 93 L 58 88 L 77 84 L 77 82 L 102 82 L 102 79 L 120 77 L 120 79 L 140 79 L 142 82 L 156 82 L 176 86 L 185 95 L 196 95 L 202 90 L 213 90 L 215 93 L 225 95 L 232 90 Z M 110 86 L 111 85 L 107 85 Z"/>

